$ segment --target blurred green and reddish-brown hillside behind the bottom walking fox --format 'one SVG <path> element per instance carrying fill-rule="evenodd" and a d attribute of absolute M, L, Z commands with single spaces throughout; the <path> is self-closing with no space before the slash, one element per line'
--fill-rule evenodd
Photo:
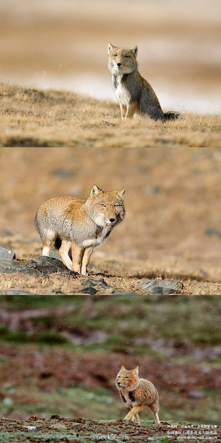
<path fill-rule="evenodd" d="M 219 424 L 220 314 L 217 296 L 2 295 L 0 413 L 124 418 L 116 375 L 139 365 L 161 420 Z"/>

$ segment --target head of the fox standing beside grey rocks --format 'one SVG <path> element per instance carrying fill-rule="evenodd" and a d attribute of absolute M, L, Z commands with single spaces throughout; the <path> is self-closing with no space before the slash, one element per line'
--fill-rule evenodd
<path fill-rule="evenodd" d="M 89 217 L 98 226 L 117 225 L 125 216 L 124 196 L 125 188 L 120 191 L 104 192 L 94 185 L 86 201 Z"/>

